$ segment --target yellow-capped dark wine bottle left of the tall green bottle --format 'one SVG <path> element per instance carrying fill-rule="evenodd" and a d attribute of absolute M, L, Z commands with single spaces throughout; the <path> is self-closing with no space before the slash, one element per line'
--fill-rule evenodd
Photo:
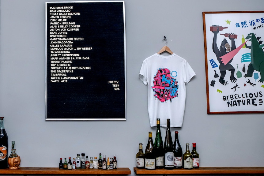
<path fill-rule="evenodd" d="M 149 141 L 146 146 L 145 150 L 145 169 L 156 169 L 156 164 L 155 164 L 155 149 L 154 149 L 154 144 L 152 140 L 152 132 L 149 132 Z"/>

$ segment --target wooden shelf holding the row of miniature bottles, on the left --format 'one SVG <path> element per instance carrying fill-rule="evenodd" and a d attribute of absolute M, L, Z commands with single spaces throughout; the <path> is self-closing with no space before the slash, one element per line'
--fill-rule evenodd
<path fill-rule="evenodd" d="M 0 174 L 23 174 L 23 175 L 128 175 L 131 170 L 128 167 L 111 170 L 102 169 L 77 169 L 63 170 L 57 167 L 21 167 L 19 169 L 0 169 Z"/>

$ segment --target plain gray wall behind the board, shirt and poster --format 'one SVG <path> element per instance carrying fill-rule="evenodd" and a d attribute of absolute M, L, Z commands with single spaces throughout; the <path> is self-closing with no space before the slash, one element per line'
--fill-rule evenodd
<path fill-rule="evenodd" d="M 21 167 L 58 167 L 59 158 L 117 155 L 118 167 L 135 175 L 138 144 L 149 125 L 142 61 L 167 46 L 185 58 L 196 76 L 187 84 L 179 140 L 197 143 L 201 167 L 264 166 L 263 114 L 214 114 L 206 108 L 203 11 L 263 10 L 263 0 L 125 0 L 126 121 L 45 121 L 45 0 L 1 0 L 0 115 L 16 142 Z M 165 128 L 161 129 L 165 138 Z"/>

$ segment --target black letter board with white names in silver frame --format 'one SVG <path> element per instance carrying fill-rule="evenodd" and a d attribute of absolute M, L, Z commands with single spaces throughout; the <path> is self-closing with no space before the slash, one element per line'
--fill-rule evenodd
<path fill-rule="evenodd" d="M 46 2 L 46 120 L 126 120 L 123 1 Z"/>

